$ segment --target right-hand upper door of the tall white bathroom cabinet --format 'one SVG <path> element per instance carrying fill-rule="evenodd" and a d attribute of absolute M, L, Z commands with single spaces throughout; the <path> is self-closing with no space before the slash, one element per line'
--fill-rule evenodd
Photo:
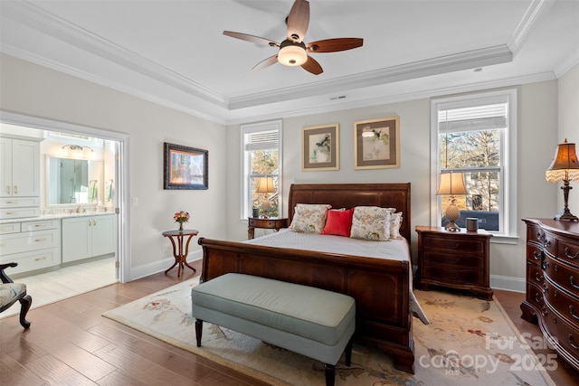
<path fill-rule="evenodd" d="M 12 140 L 12 195 L 40 195 L 40 144 L 36 141 Z"/>

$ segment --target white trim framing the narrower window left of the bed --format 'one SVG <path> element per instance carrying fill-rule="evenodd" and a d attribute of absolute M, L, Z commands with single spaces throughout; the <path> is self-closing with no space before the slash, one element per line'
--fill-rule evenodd
<path fill-rule="evenodd" d="M 276 120 L 271 120 L 271 121 L 266 121 L 266 122 L 259 122 L 259 123 L 252 123 L 252 124 L 247 124 L 247 125 L 241 125 L 241 130 L 240 130 L 240 146 L 241 146 L 241 156 L 242 156 L 242 162 L 240 163 L 240 175 L 242 176 L 241 178 L 241 186 L 240 186 L 240 220 L 242 221 L 246 221 L 247 220 L 247 215 L 244 211 L 245 211 L 245 206 L 246 206 L 246 202 L 248 200 L 249 197 L 249 189 L 250 186 L 249 184 L 247 184 L 248 181 L 248 173 L 247 170 L 245 170 L 245 168 L 247 167 L 247 160 L 245 160 L 245 140 L 244 137 L 247 133 L 252 133 L 252 132 L 256 132 L 256 131 L 265 131 L 265 130 L 278 130 L 278 135 L 279 135 L 279 144 L 280 144 L 280 153 L 278 156 L 278 161 L 280 163 L 278 170 L 279 170 L 279 177 L 278 177 L 278 191 L 279 191 L 279 208 L 283 208 L 283 197 L 282 197 L 282 192 L 283 192 L 283 157 L 282 157 L 282 153 L 283 153 L 283 142 L 282 142 L 282 138 L 283 138 L 283 125 L 282 125 L 282 120 L 281 119 L 276 119 Z M 280 217 L 282 216 L 282 213 L 280 212 Z"/>

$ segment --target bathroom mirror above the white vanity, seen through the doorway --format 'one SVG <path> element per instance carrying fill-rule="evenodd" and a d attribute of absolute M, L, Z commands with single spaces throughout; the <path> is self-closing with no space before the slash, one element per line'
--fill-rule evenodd
<path fill-rule="evenodd" d="M 48 156 L 46 165 L 48 205 L 104 202 L 102 161 Z"/>

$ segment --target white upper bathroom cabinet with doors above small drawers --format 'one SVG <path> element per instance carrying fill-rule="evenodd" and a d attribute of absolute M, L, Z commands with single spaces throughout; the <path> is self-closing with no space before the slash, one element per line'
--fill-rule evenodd
<path fill-rule="evenodd" d="M 0 219 L 40 215 L 40 143 L 0 137 Z"/>

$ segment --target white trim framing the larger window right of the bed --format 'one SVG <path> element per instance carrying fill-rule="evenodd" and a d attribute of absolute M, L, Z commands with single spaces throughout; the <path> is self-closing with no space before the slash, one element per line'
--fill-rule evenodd
<path fill-rule="evenodd" d="M 479 92 L 476 94 L 461 95 L 454 97 L 442 97 L 431 100 L 431 225 L 440 226 L 441 223 L 441 200 L 436 195 L 438 190 L 438 178 L 441 169 L 437 157 L 440 154 L 438 140 L 438 110 L 440 106 L 445 108 L 460 108 L 478 103 L 492 103 L 497 99 L 508 99 L 508 136 L 501 137 L 501 161 L 504 165 L 501 173 L 501 187 L 505 191 L 500 200 L 499 210 L 507 213 L 503 219 L 504 230 L 493 233 L 492 242 L 515 244 L 517 243 L 517 89 L 503 89 L 498 91 Z M 501 134 L 502 136 L 502 134 Z M 505 151 L 508 149 L 508 156 Z M 507 182 L 505 184 L 505 181 Z"/>

